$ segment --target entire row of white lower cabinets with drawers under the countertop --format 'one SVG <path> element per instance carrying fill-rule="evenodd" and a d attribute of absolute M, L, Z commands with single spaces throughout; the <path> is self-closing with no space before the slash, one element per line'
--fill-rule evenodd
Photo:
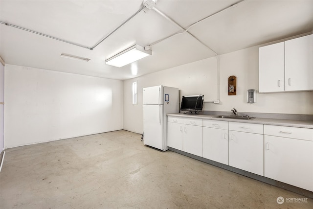
<path fill-rule="evenodd" d="M 313 191 L 313 129 L 168 116 L 169 147 Z"/>

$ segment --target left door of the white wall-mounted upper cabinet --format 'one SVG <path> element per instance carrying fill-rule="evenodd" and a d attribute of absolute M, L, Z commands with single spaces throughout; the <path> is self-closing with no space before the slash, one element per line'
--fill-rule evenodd
<path fill-rule="evenodd" d="M 259 48 L 259 92 L 285 91 L 284 42 Z"/>

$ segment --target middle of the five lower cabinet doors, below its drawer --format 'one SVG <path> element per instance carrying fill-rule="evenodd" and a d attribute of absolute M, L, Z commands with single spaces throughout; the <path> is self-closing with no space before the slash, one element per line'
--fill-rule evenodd
<path fill-rule="evenodd" d="M 228 165 L 228 130 L 203 127 L 203 158 Z"/>

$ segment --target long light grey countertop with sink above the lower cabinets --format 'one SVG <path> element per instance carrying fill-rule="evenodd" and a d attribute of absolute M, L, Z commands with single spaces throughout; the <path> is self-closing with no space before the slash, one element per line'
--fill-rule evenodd
<path fill-rule="evenodd" d="M 233 119 L 233 118 L 219 118 L 212 115 L 187 115 L 182 113 L 176 114 L 166 114 L 167 116 L 176 116 L 176 117 L 191 117 L 191 118 L 201 118 L 201 119 L 210 119 L 210 120 L 224 120 L 224 121 L 233 121 L 233 122 L 243 122 L 243 123 L 257 123 L 257 124 L 266 124 L 266 125 L 280 125 L 280 126 L 290 126 L 290 127 L 299 127 L 299 128 L 312 128 L 313 121 L 305 120 L 286 120 L 286 119 L 271 119 L 271 118 L 262 118 L 256 117 L 253 119 Z"/>

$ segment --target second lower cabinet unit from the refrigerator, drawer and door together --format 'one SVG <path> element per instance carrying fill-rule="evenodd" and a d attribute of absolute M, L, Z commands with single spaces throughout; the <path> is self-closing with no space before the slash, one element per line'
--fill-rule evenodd
<path fill-rule="evenodd" d="M 183 151 L 202 157 L 202 119 L 183 118 L 183 122 Z"/>

